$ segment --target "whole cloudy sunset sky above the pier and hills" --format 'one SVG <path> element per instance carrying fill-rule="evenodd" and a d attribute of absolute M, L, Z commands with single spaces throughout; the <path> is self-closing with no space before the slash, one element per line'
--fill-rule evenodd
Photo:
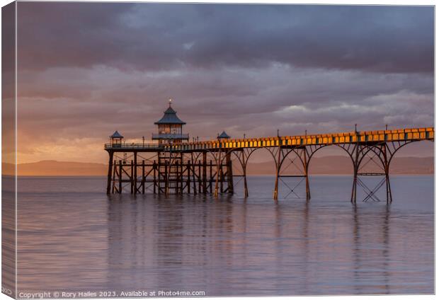
<path fill-rule="evenodd" d="M 18 163 L 106 162 L 169 98 L 200 139 L 431 127 L 433 29 L 429 6 L 18 2 Z"/>

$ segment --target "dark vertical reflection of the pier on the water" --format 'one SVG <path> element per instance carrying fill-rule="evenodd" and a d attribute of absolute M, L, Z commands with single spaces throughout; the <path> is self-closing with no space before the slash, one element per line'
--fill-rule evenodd
<path fill-rule="evenodd" d="M 341 279 L 352 270 L 347 285 L 353 293 L 388 294 L 390 207 L 351 209 L 352 221 L 345 216 L 337 224 L 310 202 L 266 207 L 230 197 L 112 199 L 108 284 L 171 284 L 215 295 L 325 294 L 346 290 Z"/>

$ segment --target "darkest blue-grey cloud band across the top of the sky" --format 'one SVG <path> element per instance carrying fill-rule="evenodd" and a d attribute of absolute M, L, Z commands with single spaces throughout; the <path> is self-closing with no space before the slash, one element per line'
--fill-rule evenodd
<path fill-rule="evenodd" d="M 433 8 L 21 2 L 26 69 L 295 67 L 433 71 Z"/>

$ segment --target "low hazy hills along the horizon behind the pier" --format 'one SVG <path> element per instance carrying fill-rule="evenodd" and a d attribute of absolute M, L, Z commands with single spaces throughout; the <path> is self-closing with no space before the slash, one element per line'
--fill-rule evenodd
<path fill-rule="evenodd" d="M 287 168 L 287 173 L 297 173 L 294 165 L 286 161 L 283 168 Z M 298 165 L 298 160 L 295 161 Z M 235 169 L 235 168 L 234 168 Z M 236 165 L 236 169 L 239 166 Z M 433 174 L 433 157 L 395 157 L 390 166 L 392 174 Z M 368 163 L 363 171 L 378 171 L 375 163 Z M 73 176 L 73 175 L 107 175 L 108 166 L 104 163 L 77 163 L 69 161 L 38 161 L 37 163 L 18 164 L 18 175 L 30 176 Z M 346 156 L 324 156 L 312 158 L 309 166 L 310 174 L 352 174 L 352 162 Z M 13 165 L 2 164 L 2 173 L 11 175 Z M 273 161 L 263 163 L 251 163 L 247 166 L 249 175 L 274 174 L 275 166 Z"/>

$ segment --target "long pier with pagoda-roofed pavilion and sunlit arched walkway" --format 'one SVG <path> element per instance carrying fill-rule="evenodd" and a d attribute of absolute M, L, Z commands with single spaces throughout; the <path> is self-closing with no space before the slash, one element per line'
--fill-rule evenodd
<path fill-rule="evenodd" d="M 304 134 L 297 136 L 259 137 L 231 139 L 225 132 L 210 141 L 189 141 L 183 134 L 183 125 L 176 112 L 169 108 L 164 117 L 155 123 L 159 133 L 153 134 L 156 144 L 125 144 L 117 131 L 105 144 L 108 151 L 107 194 L 130 190 L 132 194 L 213 194 L 234 193 L 234 178 L 244 182 L 244 197 L 249 196 L 247 185 L 247 164 L 258 149 L 266 149 L 275 165 L 273 199 L 278 200 L 280 180 L 300 178 L 304 180 L 306 199 L 311 198 L 309 187 L 309 163 L 314 154 L 326 146 L 337 146 L 348 154 L 353 163 L 353 186 L 350 197 L 356 202 L 357 188 L 365 192 L 365 199 L 380 201 L 377 191 L 385 185 L 386 201 L 392 202 L 389 166 L 401 147 L 412 142 L 434 140 L 434 128 L 410 128 L 333 134 Z M 285 161 L 294 163 L 289 156 L 295 156 L 301 168 L 300 174 L 285 174 Z M 373 156 L 373 157 L 372 157 Z M 234 175 L 232 158 L 239 162 L 240 175 Z M 287 159 L 288 158 L 288 159 Z M 380 167 L 378 172 L 362 172 L 363 166 L 375 158 Z M 375 188 L 369 188 L 361 179 L 366 176 L 380 178 Z M 290 188 L 290 187 L 288 187 Z M 295 193 L 295 188 L 291 189 Z"/>

